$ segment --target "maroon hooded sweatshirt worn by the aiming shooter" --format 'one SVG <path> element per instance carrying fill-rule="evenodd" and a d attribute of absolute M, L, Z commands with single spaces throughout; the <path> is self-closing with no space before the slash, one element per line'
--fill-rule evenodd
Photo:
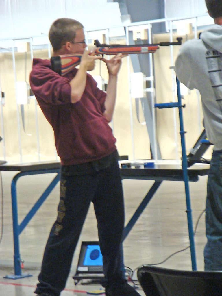
<path fill-rule="evenodd" d="M 46 119 L 52 125 L 62 165 L 98 160 L 116 150 L 112 129 L 103 115 L 106 93 L 87 73 L 81 100 L 71 103 L 71 86 L 78 69 L 64 77 L 47 59 L 33 59 L 30 86 Z"/>

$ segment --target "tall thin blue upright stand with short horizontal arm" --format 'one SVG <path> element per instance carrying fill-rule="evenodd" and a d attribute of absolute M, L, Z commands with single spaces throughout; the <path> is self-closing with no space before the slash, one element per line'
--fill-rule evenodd
<path fill-rule="evenodd" d="M 178 110 L 179 110 L 180 136 L 181 136 L 181 148 L 182 148 L 182 168 L 183 168 L 185 194 L 186 194 L 186 213 L 187 213 L 187 222 L 188 222 L 188 231 L 189 231 L 191 262 L 192 262 L 192 270 L 197 270 L 193 222 L 192 222 L 192 210 L 191 210 L 191 204 L 190 204 L 189 176 L 188 176 L 188 167 L 187 167 L 187 158 L 186 158 L 186 145 L 185 145 L 185 136 L 184 136 L 184 134 L 186 132 L 184 131 L 184 121 L 183 121 L 183 112 L 182 112 L 182 107 L 185 107 L 185 106 L 182 105 L 182 103 L 181 103 L 180 82 L 179 82 L 178 78 L 176 78 L 176 86 L 177 86 L 178 102 L 155 104 L 155 107 L 160 108 L 160 109 L 178 107 Z"/>

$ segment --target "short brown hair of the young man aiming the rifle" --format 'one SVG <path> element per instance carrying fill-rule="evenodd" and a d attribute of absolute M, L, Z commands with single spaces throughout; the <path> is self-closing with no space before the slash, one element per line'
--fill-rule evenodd
<path fill-rule="evenodd" d="M 53 51 L 59 50 L 67 41 L 74 41 L 75 32 L 83 29 L 81 22 L 70 18 L 60 18 L 54 21 L 49 30 L 49 40 Z"/>

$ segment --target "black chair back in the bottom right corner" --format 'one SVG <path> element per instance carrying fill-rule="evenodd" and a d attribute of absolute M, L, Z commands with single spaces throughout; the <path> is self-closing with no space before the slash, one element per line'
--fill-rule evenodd
<path fill-rule="evenodd" d="M 142 265 L 137 277 L 147 296 L 222 296 L 222 271 L 184 271 Z"/>

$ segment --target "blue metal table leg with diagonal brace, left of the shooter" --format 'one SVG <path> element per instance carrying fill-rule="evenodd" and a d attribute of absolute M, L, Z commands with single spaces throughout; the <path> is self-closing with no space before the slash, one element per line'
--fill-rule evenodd
<path fill-rule="evenodd" d="M 38 175 L 38 174 L 49 174 L 49 173 L 57 173 L 55 178 L 43 192 L 41 197 L 37 200 L 37 202 L 33 205 L 32 209 L 29 213 L 25 216 L 21 224 L 18 224 L 18 207 L 17 207 L 17 192 L 16 192 L 16 182 L 22 176 L 28 175 Z M 15 274 L 7 275 L 4 278 L 7 279 L 21 279 L 25 277 L 32 276 L 30 274 L 22 274 L 21 271 L 21 263 L 22 260 L 20 258 L 20 251 L 19 251 L 19 235 L 35 215 L 37 210 L 41 207 L 43 202 L 46 200 L 48 195 L 52 192 L 56 184 L 60 180 L 60 170 L 59 169 L 48 169 L 48 170 L 34 170 L 34 171 L 26 171 L 20 172 L 14 176 L 11 184 L 11 194 L 12 194 L 12 221 L 13 221 L 13 238 L 14 238 L 14 271 Z"/>

